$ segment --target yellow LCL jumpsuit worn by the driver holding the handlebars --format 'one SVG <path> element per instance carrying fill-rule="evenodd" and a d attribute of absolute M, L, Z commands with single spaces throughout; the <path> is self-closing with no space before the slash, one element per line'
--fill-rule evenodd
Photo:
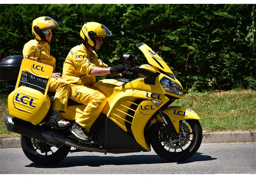
<path fill-rule="evenodd" d="M 96 76 L 89 73 L 94 66 L 108 67 L 97 58 L 95 51 L 89 52 L 83 44 L 73 47 L 63 64 L 63 79 L 70 83 L 72 89 L 70 98 L 87 105 L 83 114 L 75 120 L 86 132 L 107 103 L 105 95 L 92 87 Z"/>

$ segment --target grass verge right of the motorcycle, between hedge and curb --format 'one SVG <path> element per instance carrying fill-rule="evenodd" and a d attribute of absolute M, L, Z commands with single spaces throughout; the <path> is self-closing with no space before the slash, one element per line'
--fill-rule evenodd
<path fill-rule="evenodd" d="M 195 111 L 206 132 L 256 128 L 256 91 L 253 90 L 190 93 L 171 104 L 175 105 Z"/>

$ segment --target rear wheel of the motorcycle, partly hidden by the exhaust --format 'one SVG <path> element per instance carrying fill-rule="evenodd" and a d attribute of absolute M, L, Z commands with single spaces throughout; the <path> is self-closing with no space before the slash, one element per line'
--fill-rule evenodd
<path fill-rule="evenodd" d="M 21 147 L 27 158 L 36 164 L 56 164 L 68 155 L 71 148 L 65 145 L 56 148 L 24 135 L 21 135 Z"/>

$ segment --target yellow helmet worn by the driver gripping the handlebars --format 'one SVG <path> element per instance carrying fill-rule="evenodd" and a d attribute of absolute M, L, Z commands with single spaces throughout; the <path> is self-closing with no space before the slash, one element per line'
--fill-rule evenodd
<path fill-rule="evenodd" d="M 97 22 L 86 22 L 80 30 L 80 37 L 92 48 L 96 46 L 96 37 L 111 36 L 112 33 L 103 24 Z"/>

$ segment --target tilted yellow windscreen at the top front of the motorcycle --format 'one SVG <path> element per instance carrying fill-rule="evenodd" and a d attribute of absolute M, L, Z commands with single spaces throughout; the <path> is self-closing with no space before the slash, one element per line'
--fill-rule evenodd
<path fill-rule="evenodd" d="M 137 43 L 136 46 L 143 52 L 148 63 L 152 65 L 157 71 L 159 71 L 158 69 L 161 69 L 164 72 L 173 74 L 166 62 L 164 62 L 164 60 L 148 45 L 145 43 Z"/>

